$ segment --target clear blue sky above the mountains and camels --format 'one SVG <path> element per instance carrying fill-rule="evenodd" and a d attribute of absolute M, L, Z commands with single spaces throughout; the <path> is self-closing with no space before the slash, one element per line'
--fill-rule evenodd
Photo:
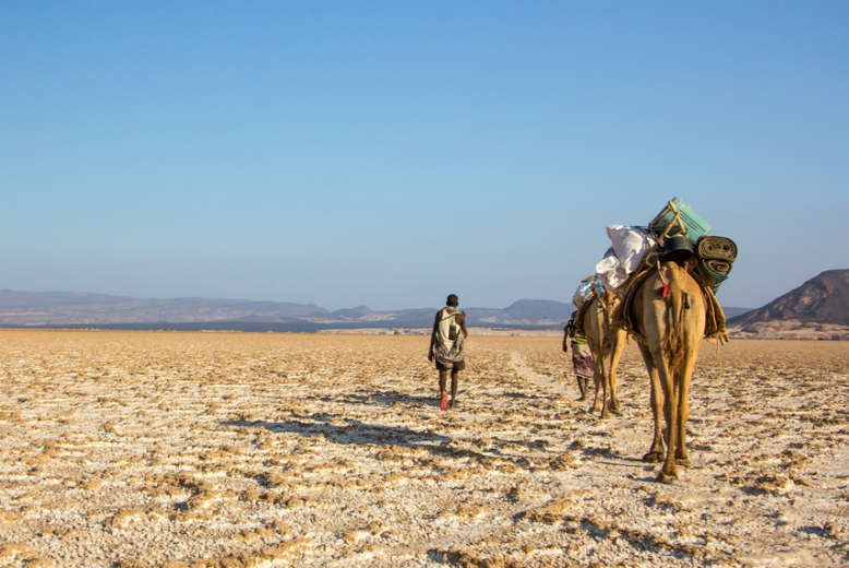
<path fill-rule="evenodd" d="M 0 287 L 570 301 L 681 197 L 849 268 L 849 3 L 0 0 Z"/>

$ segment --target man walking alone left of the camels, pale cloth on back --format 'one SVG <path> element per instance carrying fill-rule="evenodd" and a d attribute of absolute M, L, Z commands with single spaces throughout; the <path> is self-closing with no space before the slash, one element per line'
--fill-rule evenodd
<path fill-rule="evenodd" d="M 463 346 L 468 336 L 466 331 L 466 312 L 457 311 L 459 300 L 452 294 L 445 301 L 445 307 L 437 312 L 433 321 L 433 332 L 430 334 L 430 351 L 428 360 L 437 362 L 440 374 L 440 410 L 445 410 L 449 397 L 445 394 L 447 374 L 451 372 L 451 410 L 456 410 L 457 374 L 466 368 L 463 358 Z"/>

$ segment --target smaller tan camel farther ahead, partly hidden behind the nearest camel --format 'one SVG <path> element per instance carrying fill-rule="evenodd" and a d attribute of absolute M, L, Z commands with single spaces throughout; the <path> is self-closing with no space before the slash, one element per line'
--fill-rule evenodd
<path fill-rule="evenodd" d="M 607 418 L 610 413 L 619 413 L 619 400 L 617 399 L 617 366 L 625 347 L 627 333 L 619 328 L 610 326 L 613 309 L 619 304 L 619 298 L 608 292 L 603 298 L 595 295 L 589 301 L 579 326 L 587 338 L 589 351 L 593 353 L 593 363 L 596 370 L 594 381 L 596 383 L 596 399 L 590 412 L 601 411 L 601 417 Z M 610 365 L 606 365 L 610 357 Z M 608 400 L 608 391 L 610 399 Z M 599 401 L 601 393 L 601 401 Z"/>

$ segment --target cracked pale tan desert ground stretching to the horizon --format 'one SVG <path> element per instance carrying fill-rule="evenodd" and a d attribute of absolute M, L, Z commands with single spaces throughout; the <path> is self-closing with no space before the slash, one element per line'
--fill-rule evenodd
<path fill-rule="evenodd" d="M 849 342 L 703 344 L 669 484 L 636 347 L 602 421 L 560 343 L 441 412 L 422 335 L 0 330 L 0 566 L 849 563 Z"/>

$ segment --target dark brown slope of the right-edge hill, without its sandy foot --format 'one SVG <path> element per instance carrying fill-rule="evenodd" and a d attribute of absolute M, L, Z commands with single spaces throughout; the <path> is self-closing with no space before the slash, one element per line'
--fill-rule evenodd
<path fill-rule="evenodd" d="M 800 323 L 849 326 L 849 270 L 829 270 L 756 309 L 731 318 L 729 327 L 793 320 Z"/>

